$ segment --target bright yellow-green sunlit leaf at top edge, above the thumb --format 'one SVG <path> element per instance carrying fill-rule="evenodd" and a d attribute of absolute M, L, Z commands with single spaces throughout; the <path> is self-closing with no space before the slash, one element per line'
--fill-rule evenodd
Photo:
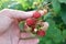
<path fill-rule="evenodd" d="M 32 4 L 33 4 L 33 0 L 16 0 L 16 1 L 21 3 L 24 10 L 32 8 Z"/>

